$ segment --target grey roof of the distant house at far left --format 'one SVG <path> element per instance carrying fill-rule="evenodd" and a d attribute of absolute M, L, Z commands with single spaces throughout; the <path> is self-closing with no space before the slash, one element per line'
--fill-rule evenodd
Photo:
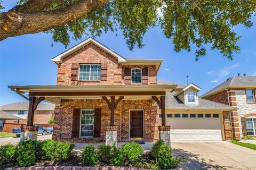
<path fill-rule="evenodd" d="M 28 111 L 28 102 L 17 102 L 11 103 L 7 105 L 0 106 L 0 110 L 2 111 Z M 39 104 L 37 106 L 36 111 L 53 111 L 55 108 L 54 104 Z"/>

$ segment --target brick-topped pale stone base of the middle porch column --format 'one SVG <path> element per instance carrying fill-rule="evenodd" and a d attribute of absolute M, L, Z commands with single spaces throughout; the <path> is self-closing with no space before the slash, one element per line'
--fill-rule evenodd
<path fill-rule="evenodd" d="M 105 126 L 106 128 L 106 145 L 117 146 L 117 128 L 118 126 Z"/>

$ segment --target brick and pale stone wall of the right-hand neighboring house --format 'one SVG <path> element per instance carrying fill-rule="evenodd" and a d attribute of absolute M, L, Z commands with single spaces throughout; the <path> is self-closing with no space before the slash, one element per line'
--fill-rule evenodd
<path fill-rule="evenodd" d="M 227 90 L 225 90 L 209 97 L 211 101 L 237 107 L 237 111 L 230 112 L 234 138 L 241 138 L 243 136 L 241 117 L 256 113 L 256 103 L 247 103 L 245 90 L 245 88 L 229 88 L 228 94 Z M 255 94 L 256 89 L 254 89 Z M 225 115 L 223 114 L 223 119 L 229 117 Z"/>

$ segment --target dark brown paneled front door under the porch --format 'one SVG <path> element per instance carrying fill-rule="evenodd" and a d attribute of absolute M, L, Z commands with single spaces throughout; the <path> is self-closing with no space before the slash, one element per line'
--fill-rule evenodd
<path fill-rule="evenodd" d="M 143 140 L 143 111 L 130 112 L 130 139 Z"/>

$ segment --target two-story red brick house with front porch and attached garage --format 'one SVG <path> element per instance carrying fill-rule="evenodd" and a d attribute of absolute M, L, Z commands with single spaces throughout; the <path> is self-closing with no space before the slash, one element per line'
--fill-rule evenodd
<path fill-rule="evenodd" d="M 89 38 L 52 58 L 55 86 L 9 86 L 28 93 L 30 117 L 41 100 L 57 106 L 52 138 L 98 143 L 231 139 L 229 111 L 198 98 L 201 88 L 157 82 L 162 60 L 124 58 Z M 33 121 L 28 121 L 28 131 Z"/>

